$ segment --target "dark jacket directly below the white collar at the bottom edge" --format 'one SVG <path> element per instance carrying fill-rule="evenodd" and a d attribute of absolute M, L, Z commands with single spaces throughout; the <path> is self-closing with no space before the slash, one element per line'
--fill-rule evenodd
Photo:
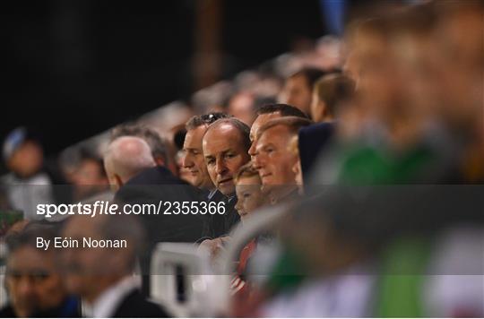
<path fill-rule="evenodd" d="M 170 317 L 161 306 L 146 300 L 142 293 L 135 289 L 117 307 L 113 318 L 167 318 Z"/>

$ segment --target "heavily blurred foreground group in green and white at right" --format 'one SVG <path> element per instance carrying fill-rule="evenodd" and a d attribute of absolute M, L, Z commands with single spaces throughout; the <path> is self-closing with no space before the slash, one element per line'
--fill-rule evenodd
<path fill-rule="evenodd" d="M 484 314 L 482 191 L 462 185 L 484 180 L 483 13 L 439 1 L 350 30 L 355 105 L 311 174 L 323 195 L 281 222 L 262 315 Z"/>

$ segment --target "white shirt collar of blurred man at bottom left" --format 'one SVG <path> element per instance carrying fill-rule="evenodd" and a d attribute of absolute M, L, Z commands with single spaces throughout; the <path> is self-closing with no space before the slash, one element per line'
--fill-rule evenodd
<path fill-rule="evenodd" d="M 93 318 L 108 318 L 114 315 L 117 306 L 123 298 L 134 289 L 139 288 L 139 280 L 134 276 L 127 276 L 108 289 L 94 300 L 92 304 L 82 303 L 82 314 Z"/>

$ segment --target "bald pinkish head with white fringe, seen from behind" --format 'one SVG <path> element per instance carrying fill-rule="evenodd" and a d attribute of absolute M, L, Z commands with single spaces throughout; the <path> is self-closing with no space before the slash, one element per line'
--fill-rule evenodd
<path fill-rule="evenodd" d="M 155 165 L 148 143 L 134 136 L 117 138 L 108 145 L 104 155 L 109 184 L 116 190 L 144 169 Z"/>

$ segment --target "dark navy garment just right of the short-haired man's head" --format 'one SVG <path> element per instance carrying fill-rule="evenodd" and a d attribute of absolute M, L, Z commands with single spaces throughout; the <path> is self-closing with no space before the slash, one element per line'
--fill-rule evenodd
<path fill-rule="evenodd" d="M 319 153 L 324 151 L 330 142 L 334 129 L 334 122 L 325 122 L 302 127 L 299 130 L 299 158 L 305 181 L 307 181 L 308 173 L 313 168 Z"/>

